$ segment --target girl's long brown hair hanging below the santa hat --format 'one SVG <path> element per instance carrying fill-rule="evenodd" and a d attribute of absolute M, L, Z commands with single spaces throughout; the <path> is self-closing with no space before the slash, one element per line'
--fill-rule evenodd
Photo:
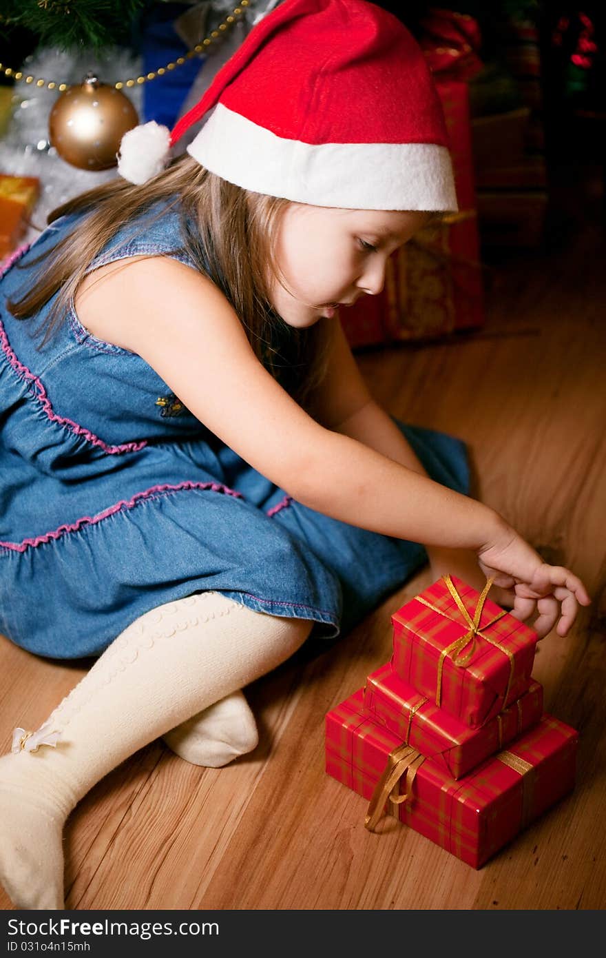
<path fill-rule="evenodd" d="M 313 413 L 313 393 L 326 370 L 328 321 L 321 318 L 299 330 L 285 323 L 269 301 L 269 275 L 281 282 L 275 242 L 288 200 L 242 190 L 205 170 L 187 153 L 144 186 L 117 176 L 57 207 L 49 224 L 58 217 L 84 214 L 78 242 L 70 234 L 50 253 L 28 263 L 41 264 L 39 275 L 23 296 L 7 304 L 12 315 L 22 320 L 34 317 L 56 296 L 35 331 L 44 334 L 41 349 L 65 320 L 90 262 L 126 222 L 158 200 L 168 200 L 159 216 L 180 208 L 184 237 L 180 249 L 227 297 L 259 361 Z"/>

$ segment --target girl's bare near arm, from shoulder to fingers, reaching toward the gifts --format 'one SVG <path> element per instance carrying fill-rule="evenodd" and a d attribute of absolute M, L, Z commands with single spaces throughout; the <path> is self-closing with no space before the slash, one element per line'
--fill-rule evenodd
<path fill-rule="evenodd" d="M 110 317 L 115 341 L 146 359 L 200 422 L 303 505 L 386 536 L 473 549 L 486 574 L 502 574 L 497 585 L 515 576 L 533 592 L 544 563 L 499 513 L 308 416 L 259 363 L 220 290 L 196 270 L 165 257 L 136 260 L 93 287 L 87 308 L 93 301 Z M 86 326 L 81 311 L 79 318 Z M 582 583 L 563 571 L 561 594 L 589 604 Z M 541 588 L 549 588 L 545 576 Z"/>

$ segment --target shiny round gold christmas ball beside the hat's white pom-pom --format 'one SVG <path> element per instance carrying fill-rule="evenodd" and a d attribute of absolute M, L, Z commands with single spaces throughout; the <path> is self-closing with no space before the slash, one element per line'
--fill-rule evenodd
<path fill-rule="evenodd" d="M 49 118 L 51 144 L 79 170 L 109 170 L 126 130 L 138 125 L 137 110 L 120 90 L 86 75 L 56 101 Z"/>

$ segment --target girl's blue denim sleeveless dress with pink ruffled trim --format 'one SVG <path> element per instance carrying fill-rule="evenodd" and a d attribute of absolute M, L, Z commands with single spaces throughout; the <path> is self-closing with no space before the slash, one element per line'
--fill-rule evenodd
<path fill-rule="evenodd" d="M 53 300 L 24 321 L 6 302 L 78 220 L 56 220 L 0 280 L 0 632 L 39 655 L 98 655 L 154 606 L 213 589 L 312 620 L 314 639 L 346 634 L 426 562 L 424 549 L 293 500 L 141 356 L 87 331 L 73 305 L 40 348 Z M 149 253 L 194 265 L 182 230 L 174 206 L 152 207 L 89 271 Z M 469 492 L 459 439 L 394 422 L 433 479 Z"/>

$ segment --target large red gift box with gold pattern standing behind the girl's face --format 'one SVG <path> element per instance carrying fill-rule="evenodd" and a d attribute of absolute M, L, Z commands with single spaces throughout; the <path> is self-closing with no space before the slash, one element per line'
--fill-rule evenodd
<path fill-rule="evenodd" d="M 462 80 L 438 80 L 436 87 L 451 140 L 459 213 L 445 214 L 393 253 L 378 296 L 341 310 L 352 348 L 483 326 L 469 89 Z"/>

